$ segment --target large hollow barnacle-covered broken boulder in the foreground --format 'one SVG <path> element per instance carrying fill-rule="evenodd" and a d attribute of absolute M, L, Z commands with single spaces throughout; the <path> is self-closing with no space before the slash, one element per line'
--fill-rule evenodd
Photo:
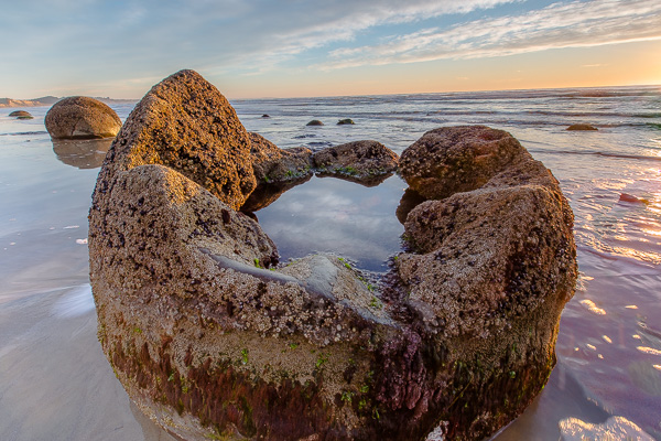
<path fill-rule="evenodd" d="M 229 105 L 206 107 L 219 100 L 209 86 L 191 71 L 154 86 L 89 214 L 99 341 L 141 410 L 199 440 L 414 440 L 436 427 L 481 439 L 520 413 L 554 364 L 576 276 L 571 211 L 550 172 L 509 137 L 484 182 L 410 204 L 410 249 L 381 287 L 336 256 L 277 266 L 275 245 L 236 211 L 253 187 L 236 171 L 254 180 L 282 151 L 246 133 Z M 223 132 L 214 162 L 203 129 Z M 462 130 L 458 142 L 507 138 Z M 225 168 L 236 181 L 201 179 Z"/>

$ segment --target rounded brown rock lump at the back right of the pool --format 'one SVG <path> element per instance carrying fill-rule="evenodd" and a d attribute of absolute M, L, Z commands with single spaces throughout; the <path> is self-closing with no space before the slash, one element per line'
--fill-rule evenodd
<path fill-rule="evenodd" d="M 442 198 L 484 185 L 522 152 L 519 141 L 502 130 L 443 127 L 404 150 L 399 172 L 421 195 Z"/>

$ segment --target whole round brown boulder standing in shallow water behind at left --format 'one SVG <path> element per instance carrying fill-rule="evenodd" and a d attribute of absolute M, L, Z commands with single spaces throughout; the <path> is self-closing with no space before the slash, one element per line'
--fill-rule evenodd
<path fill-rule="evenodd" d="M 55 139 L 111 138 L 121 128 L 121 120 L 108 105 L 82 96 L 55 103 L 46 114 L 45 123 Z"/>

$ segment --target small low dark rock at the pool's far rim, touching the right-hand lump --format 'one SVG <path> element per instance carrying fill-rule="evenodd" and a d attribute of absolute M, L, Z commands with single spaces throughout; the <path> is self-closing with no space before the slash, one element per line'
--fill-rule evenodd
<path fill-rule="evenodd" d="M 319 150 L 313 163 L 319 174 L 369 181 L 395 171 L 398 155 L 377 141 L 354 141 Z"/>

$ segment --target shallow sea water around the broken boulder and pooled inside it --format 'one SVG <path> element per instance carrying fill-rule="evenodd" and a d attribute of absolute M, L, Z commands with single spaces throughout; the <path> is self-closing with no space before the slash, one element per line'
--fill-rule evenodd
<path fill-rule="evenodd" d="M 561 427 L 597 433 L 608 420 L 661 440 L 660 86 L 231 104 L 249 131 L 285 149 L 372 139 L 401 153 L 456 125 L 513 135 L 570 201 L 581 273 L 549 385 L 495 439 L 556 441 Z M 111 107 L 123 120 L 133 104 Z M 169 440 L 130 404 L 96 341 L 87 212 L 109 141 L 51 141 L 47 109 L 25 109 L 32 120 L 0 109 L 0 439 Z M 344 118 L 355 125 L 336 125 Z M 313 178 L 256 215 L 282 261 L 336 252 L 378 280 L 402 247 L 394 213 L 405 186 L 397 175 L 373 187 Z"/>

